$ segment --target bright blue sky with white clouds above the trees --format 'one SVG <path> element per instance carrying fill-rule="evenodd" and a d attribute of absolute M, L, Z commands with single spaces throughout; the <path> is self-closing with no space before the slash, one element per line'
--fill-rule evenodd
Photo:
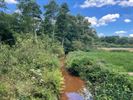
<path fill-rule="evenodd" d="M 14 12 L 16 0 L 5 0 Z M 37 0 L 43 7 L 49 0 Z M 72 14 L 81 14 L 96 28 L 99 36 L 133 37 L 133 0 L 57 0 L 67 2 Z"/>

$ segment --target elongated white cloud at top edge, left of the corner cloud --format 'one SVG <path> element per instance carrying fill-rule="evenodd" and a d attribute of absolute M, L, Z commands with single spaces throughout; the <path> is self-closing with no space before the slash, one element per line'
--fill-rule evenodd
<path fill-rule="evenodd" d="M 115 5 L 114 0 L 85 0 L 83 4 L 80 5 L 81 8 L 88 7 L 102 7 L 105 5 Z"/>

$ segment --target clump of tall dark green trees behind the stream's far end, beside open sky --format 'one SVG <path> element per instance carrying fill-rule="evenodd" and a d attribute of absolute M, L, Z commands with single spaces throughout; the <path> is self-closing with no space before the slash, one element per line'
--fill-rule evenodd
<path fill-rule="evenodd" d="M 51 0 L 44 8 L 42 30 L 53 40 L 60 41 L 66 53 L 93 47 L 92 44 L 97 39 L 97 35 L 83 16 L 71 15 L 66 3 L 58 5 L 54 0 Z"/>

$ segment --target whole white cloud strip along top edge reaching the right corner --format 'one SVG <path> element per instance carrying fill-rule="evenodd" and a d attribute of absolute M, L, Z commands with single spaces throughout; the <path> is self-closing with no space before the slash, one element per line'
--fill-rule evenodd
<path fill-rule="evenodd" d="M 103 7 L 107 5 L 119 5 L 123 7 L 133 7 L 133 0 L 85 0 L 80 5 L 81 8 Z"/>

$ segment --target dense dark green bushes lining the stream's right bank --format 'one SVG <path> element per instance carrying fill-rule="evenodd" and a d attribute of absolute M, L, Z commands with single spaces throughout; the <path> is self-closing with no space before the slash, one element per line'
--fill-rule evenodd
<path fill-rule="evenodd" d="M 67 56 L 67 67 L 72 74 L 87 81 L 95 100 L 133 98 L 133 84 L 128 76 L 109 70 L 102 62 L 94 62 L 85 52 L 70 53 Z"/>

